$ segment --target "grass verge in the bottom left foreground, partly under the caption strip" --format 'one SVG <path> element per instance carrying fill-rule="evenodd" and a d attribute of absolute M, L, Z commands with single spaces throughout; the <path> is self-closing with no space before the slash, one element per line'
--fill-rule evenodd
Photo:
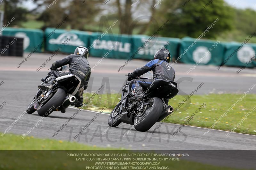
<path fill-rule="evenodd" d="M 0 137 L 0 169 L 86 169 L 86 166 L 97 166 L 96 160 L 77 160 L 76 158 L 88 158 L 87 156 L 67 156 L 68 153 L 136 153 L 136 151 L 117 151 L 111 148 L 100 148 L 93 146 L 86 146 L 84 144 L 78 144 L 75 142 L 65 142 L 51 139 L 39 139 L 34 137 L 26 137 L 22 139 L 20 135 L 5 134 L 4 137 Z M 16 150 L 16 151 L 6 151 Z M 26 150 L 26 151 L 25 151 Z M 30 151 L 29 151 L 30 150 Z M 38 151 L 39 150 L 39 151 Z M 50 150 L 50 151 L 40 151 Z M 70 151 L 57 151 L 57 150 L 70 150 Z M 81 150 L 81 151 L 74 151 Z M 91 151 L 85 151 L 91 150 Z M 92 151 L 100 150 L 100 151 Z M 105 150 L 105 151 L 104 151 Z M 106 151 L 110 150 L 110 151 Z M 119 149 L 120 150 L 120 149 Z M 139 152 L 137 152 L 139 153 Z M 115 158 L 116 156 L 89 156 L 89 158 Z M 121 156 L 120 158 L 124 158 Z M 149 158 L 155 158 L 149 156 Z M 169 157 L 165 157 L 169 158 Z M 107 161 L 100 162 L 121 162 L 121 161 Z M 136 162 L 148 162 L 148 161 L 136 161 Z M 186 160 L 179 161 L 156 161 L 160 162 L 161 166 L 168 166 L 171 169 L 191 169 L 191 170 L 231 170 L 233 168 L 217 167 L 212 165 L 206 165 Z M 99 166 L 97 166 L 99 167 Z M 147 167 L 144 166 L 144 167 Z M 148 166 L 149 167 L 149 166 Z M 100 168 L 102 169 L 102 168 Z M 104 168 L 103 168 L 104 169 Z M 118 168 L 119 169 L 119 168 Z M 148 168 L 146 168 L 148 169 Z M 149 168 L 150 169 L 150 168 Z M 152 169 L 152 168 L 151 168 Z"/>

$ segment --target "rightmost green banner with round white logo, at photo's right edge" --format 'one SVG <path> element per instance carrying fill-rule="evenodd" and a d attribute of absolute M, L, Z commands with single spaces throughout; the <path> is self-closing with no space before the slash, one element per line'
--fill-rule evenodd
<path fill-rule="evenodd" d="M 256 66 L 256 44 L 225 43 L 224 65 L 238 67 Z"/>

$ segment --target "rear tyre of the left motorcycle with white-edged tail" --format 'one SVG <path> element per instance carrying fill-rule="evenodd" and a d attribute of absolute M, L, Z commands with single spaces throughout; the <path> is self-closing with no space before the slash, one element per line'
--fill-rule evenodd
<path fill-rule="evenodd" d="M 65 97 L 66 92 L 61 88 L 57 89 L 43 106 L 39 106 L 37 109 L 38 115 L 47 117 L 60 106 Z"/>

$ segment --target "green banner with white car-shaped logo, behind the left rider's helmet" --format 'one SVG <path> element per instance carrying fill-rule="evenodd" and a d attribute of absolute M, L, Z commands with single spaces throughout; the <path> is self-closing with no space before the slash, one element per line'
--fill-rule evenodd
<path fill-rule="evenodd" d="M 91 32 L 78 30 L 56 30 L 56 28 L 46 28 L 44 33 L 46 38 L 45 50 L 60 50 L 63 53 L 72 54 L 76 47 L 89 46 L 91 34 Z"/>

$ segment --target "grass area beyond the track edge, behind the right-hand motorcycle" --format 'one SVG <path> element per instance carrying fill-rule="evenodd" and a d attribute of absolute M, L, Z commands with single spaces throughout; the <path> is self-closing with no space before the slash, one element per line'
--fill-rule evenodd
<path fill-rule="evenodd" d="M 88 100 L 89 96 L 91 96 L 91 94 L 84 94 L 85 100 Z M 103 94 L 96 96 L 84 109 L 99 111 L 100 108 L 106 106 L 108 109 L 106 109 L 105 112 L 110 112 L 120 100 L 120 96 L 120 94 Z M 191 97 L 191 104 L 188 102 L 189 106 L 186 107 L 186 110 L 184 109 L 186 106 L 185 103 L 179 110 L 173 113 L 173 115 L 169 116 L 165 122 L 183 124 L 188 117 L 197 110 L 198 113 L 194 116 L 193 120 L 189 121 L 188 125 L 210 128 L 241 96 L 241 94 L 194 95 Z M 169 101 L 169 105 L 176 108 L 186 97 L 187 96 L 177 95 Z M 213 129 L 230 131 L 236 128 L 235 125 L 243 119 L 244 115 L 249 113 L 253 106 L 255 106 L 255 98 L 255 94 L 246 95 L 246 97 L 240 101 L 227 116 L 223 117 Z M 198 107 L 203 103 L 206 104 L 206 107 L 199 112 Z M 243 123 L 234 130 L 238 133 L 256 135 L 256 115 L 251 113 L 247 120 L 244 120 Z"/>

